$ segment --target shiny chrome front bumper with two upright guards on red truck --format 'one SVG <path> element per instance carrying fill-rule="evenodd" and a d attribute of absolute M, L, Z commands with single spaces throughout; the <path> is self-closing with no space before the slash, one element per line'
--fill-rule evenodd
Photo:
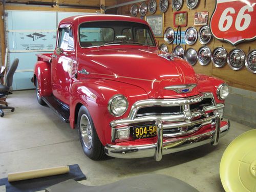
<path fill-rule="evenodd" d="M 219 138 L 224 136 L 230 129 L 230 122 L 220 127 L 221 118 L 218 112 L 212 116 L 212 119 L 216 119 L 215 130 L 205 131 L 201 134 L 193 136 L 186 136 L 182 138 L 171 138 L 163 142 L 163 123 L 161 120 L 156 120 L 157 125 L 157 142 L 153 144 L 145 145 L 112 145 L 106 144 L 105 153 L 108 156 L 115 158 L 143 158 L 154 157 L 156 161 L 162 159 L 162 155 L 184 151 L 189 148 L 194 148 L 200 145 L 211 143 L 217 145 Z"/>

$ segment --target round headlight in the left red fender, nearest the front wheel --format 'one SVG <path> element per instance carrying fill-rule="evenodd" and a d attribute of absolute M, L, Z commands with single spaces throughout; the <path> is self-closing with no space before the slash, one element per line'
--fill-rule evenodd
<path fill-rule="evenodd" d="M 109 100 L 108 110 L 115 117 L 122 116 L 128 108 L 128 101 L 123 95 L 114 95 Z"/>

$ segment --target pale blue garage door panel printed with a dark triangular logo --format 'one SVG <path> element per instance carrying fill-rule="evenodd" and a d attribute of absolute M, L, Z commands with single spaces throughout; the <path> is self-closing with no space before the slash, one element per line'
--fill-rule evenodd
<path fill-rule="evenodd" d="M 56 32 L 10 32 L 10 50 L 53 50 Z"/>

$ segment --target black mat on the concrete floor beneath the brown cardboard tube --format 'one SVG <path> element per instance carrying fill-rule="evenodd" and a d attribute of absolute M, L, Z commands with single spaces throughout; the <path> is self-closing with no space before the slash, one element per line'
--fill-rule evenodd
<path fill-rule="evenodd" d="M 0 186 L 6 186 L 6 192 L 32 192 L 38 190 L 44 190 L 45 188 L 55 185 L 57 183 L 73 179 L 75 181 L 85 180 L 86 176 L 82 173 L 80 167 L 75 165 L 69 165 L 70 172 L 68 174 L 42 177 L 37 179 L 28 179 L 24 181 L 8 182 L 8 178 L 0 179 Z"/>

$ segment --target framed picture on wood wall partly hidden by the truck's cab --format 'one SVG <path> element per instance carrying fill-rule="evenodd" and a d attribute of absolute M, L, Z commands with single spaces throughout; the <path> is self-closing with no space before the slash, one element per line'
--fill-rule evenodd
<path fill-rule="evenodd" d="M 145 16 L 145 20 L 150 25 L 156 37 L 163 37 L 164 14 Z"/>

